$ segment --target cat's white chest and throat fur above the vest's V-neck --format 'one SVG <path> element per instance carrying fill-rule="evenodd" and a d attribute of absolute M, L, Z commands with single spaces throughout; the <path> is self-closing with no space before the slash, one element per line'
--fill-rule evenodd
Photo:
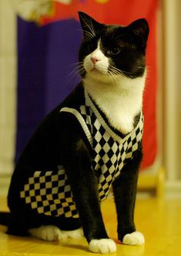
<path fill-rule="evenodd" d="M 123 134 L 132 131 L 136 114 L 142 111 L 145 76 L 136 79 L 122 77 L 117 84 L 103 84 L 87 77 L 84 84 L 112 127 Z"/>

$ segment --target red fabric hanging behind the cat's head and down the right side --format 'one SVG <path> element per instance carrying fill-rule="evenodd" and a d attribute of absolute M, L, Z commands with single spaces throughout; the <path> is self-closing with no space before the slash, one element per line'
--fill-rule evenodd
<path fill-rule="evenodd" d="M 142 169 L 153 165 L 157 153 L 156 139 L 156 0 L 99 0 L 72 1 L 70 5 L 55 2 L 52 17 L 43 17 L 42 24 L 55 22 L 59 19 L 78 19 L 77 12 L 91 15 L 99 22 L 107 24 L 128 25 L 135 19 L 146 18 L 149 22 L 149 41 L 146 52 L 148 75 L 143 101 L 145 116 L 143 135 Z"/>

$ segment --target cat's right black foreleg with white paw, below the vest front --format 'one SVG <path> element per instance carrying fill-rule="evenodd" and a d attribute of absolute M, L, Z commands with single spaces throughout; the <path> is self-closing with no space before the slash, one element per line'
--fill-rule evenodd
<path fill-rule="evenodd" d="M 144 244 L 144 236 L 136 231 L 134 209 L 136 187 L 142 151 L 138 150 L 130 162 L 122 168 L 122 173 L 113 183 L 118 219 L 118 237 L 123 244 Z"/>

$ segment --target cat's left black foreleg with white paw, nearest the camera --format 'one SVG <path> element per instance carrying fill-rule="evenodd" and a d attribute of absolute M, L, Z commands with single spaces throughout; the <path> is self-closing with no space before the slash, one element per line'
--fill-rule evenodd
<path fill-rule="evenodd" d="M 64 167 L 90 251 L 116 251 L 115 242 L 106 233 L 99 206 L 97 177 L 92 170 L 89 151 L 81 139 L 72 152 L 69 148 L 69 159 L 65 161 Z"/>

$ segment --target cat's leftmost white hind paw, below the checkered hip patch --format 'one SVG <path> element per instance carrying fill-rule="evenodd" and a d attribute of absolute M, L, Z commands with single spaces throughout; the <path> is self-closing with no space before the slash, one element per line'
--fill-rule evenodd
<path fill-rule="evenodd" d="M 62 232 L 59 227 L 52 225 L 31 228 L 28 233 L 45 241 L 59 241 L 62 238 Z"/>

